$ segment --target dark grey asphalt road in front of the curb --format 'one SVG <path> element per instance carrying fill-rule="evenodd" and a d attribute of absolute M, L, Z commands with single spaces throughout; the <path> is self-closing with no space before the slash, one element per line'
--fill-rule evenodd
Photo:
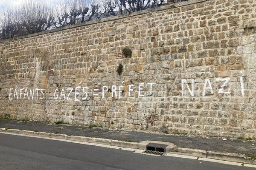
<path fill-rule="evenodd" d="M 255 170 L 0 133 L 0 170 Z"/>

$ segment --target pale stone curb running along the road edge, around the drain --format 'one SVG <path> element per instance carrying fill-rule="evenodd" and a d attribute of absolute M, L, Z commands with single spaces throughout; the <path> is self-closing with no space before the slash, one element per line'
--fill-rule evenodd
<path fill-rule="evenodd" d="M 70 141 L 111 145 L 114 147 L 140 149 L 140 150 L 145 150 L 146 145 L 149 143 L 167 144 L 168 146 L 166 147 L 166 153 L 171 155 L 179 154 L 184 156 L 194 156 L 194 157 L 197 157 L 198 159 L 204 158 L 204 159 L 215 159 L 215 160 L 221 160 L 221 161 L 233 161 L 233 162 L 241 163 L 244 166 L 250 166 L 250 164 L 252 164 L 252 166 L 254 167 L 254 165 L 256 165 L 256 159 L 250 159 L 249 157 L 242 154 L 220 153 L 220 152 L 207 151 L 207 150 L 176 147 L 175 144 L 169 143 L 169 142 L 159 142 L 159 141 L 143 141 L 139 143 L 125 142 L 125 141 L 93 138 L 93 137 L 86 137 L 86 136 L 70 136 L 70 135 L 60 134 L 60 133 L 35 132 L 31 130 L 18 130 L 18 129 L 6 129 L 6 128 L 0 128 L 0 132 L 14 133 L 14 134 L 21 134 L 21 135 L 28 135 L 28 136 L 49 137 L 53 139 L 64 139 L 64 140 L 70 140 Z"/>

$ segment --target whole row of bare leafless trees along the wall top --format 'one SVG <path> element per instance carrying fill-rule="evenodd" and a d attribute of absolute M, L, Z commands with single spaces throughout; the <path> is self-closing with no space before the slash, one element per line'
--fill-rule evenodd
<path fill-rule="evenodd" d="M 181 1 L 186 0 L 170 0 L 171 3 Z M 0 39 L 141 11 L 161 6 L 165 2 L 166 0 L 62 0 L 56 6 L 54 14 L 52 6 L 44 0 L 24 0 L 20 6 L 0 11 Z"/>

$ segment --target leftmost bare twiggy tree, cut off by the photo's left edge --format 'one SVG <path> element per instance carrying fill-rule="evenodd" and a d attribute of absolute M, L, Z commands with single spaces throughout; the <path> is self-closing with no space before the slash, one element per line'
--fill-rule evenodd
<path fill-rule="evenodd" d="M 0 39 L 8 39 L 19 35 L 17 10 L 5 7 L 0 11 Z"/>

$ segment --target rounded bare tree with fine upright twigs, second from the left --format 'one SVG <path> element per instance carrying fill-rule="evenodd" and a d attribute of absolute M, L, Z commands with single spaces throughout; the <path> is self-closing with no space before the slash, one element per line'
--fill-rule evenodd
<path fill-rule="evenodd" d="M 19 10 L 20 26 L 26 34 L 46 31 L 54 24 L 53 8 L 43 0 L 26 0 Z"/>

